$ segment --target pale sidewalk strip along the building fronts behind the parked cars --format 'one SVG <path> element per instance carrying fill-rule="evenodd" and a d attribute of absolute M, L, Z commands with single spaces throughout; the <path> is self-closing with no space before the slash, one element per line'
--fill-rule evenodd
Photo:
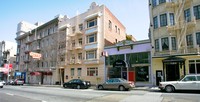
<path fill-rule="evenodd" d="M 24 86 L 39 86 L 39 87 L 63 87 L 62 85 L 39 85 L 39 84 L 24 84 Z M 96 89 L 95 85 L 92 85 L 90 89 Z M 158 91 L 158 87 L 149 87 L 149 86 L 138 86 L 134 87 L 132 90 L 143 90 L 143 91 Z"/>

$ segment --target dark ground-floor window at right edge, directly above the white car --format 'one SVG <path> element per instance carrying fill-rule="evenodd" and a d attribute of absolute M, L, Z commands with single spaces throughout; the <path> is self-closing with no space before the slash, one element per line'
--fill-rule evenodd
<path fill-rule="evenodd" d="M 200 60 L 189 60 L 189 73 L 200 74 Z"/>

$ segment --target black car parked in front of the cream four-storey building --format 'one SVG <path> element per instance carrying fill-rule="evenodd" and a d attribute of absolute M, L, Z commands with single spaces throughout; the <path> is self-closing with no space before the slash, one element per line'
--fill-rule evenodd
<path fill-rule="evenodd" d="M 72 79 L 69 82 L 63 84 L 64 88 L 76 88 L 76 89 L 87 89 L 91 86 L 89 81 L 81 80 L 81 79 Z"/>

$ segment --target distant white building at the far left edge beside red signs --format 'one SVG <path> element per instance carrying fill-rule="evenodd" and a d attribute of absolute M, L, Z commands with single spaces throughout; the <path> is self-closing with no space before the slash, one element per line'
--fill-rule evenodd
<path fill-rule="evenodd" d="M 5 64 L 11 64 L 12 67 L 8 72 L 0 69 L 0 80 L 7 81 L 9 78 L 13 78 L 14 68 L 15 68 L 15 54 L 16 54 L 16 43 L 11 41 L 1 41 L 0 42 L 0 68 L 4 68 Z M 9 75 L 9 78 L 8 78 Z"/>

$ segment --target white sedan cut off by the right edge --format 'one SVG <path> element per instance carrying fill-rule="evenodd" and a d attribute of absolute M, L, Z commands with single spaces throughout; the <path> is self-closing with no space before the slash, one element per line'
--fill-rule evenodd
<path fill-rule="evenodd" d="M 159 88 L 166 92 L 175 90 L 200 90 L 200 74 L 186 75 L 179 81 L 160 82 Z"/>

